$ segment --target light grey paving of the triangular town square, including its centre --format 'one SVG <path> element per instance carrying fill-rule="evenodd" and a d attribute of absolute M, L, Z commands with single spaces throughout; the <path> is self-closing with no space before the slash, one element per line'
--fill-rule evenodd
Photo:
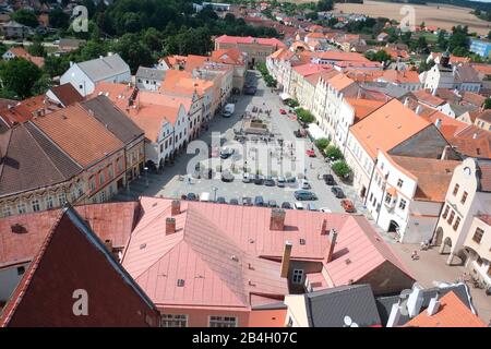
<path fill-rule="evenodd" d="M 132 184 L 132 195 L 163 195 L 166 197 L 181 197 L 188 193 L 196 195 L 208 193 L 212 200 L 224 197 L 227 202 L 237 198 L 241 202 L 242 197 L 251 197 L 252 201 L 256 196 L 262 196 L 264 202 L 275 201 L 279 206 L 284 202 L 291 205 L 297 202 L 295 191 L 302 189 L 302 179 L 309 184 L 309 191 L 315 193 L 318 200 L 303 201 L 307 207 L 308 203 L 312 203 L 315 208 L 327 208 L 331 212 L 343 212 L 339 198 L 336 198 L 331 191 L 331 186 L 326 185 L 322 179 L 323 174 L 330 173 L 326 163 L 320 157 L 309 157 L 306 153 L 312 147 L 312 143 L 308 139 L 297 139 L 294 134 L 299 129 L 299 124 L 292 115 L 282 115 L 280 109 L 289 109 L 283 105 L 277 93 L 272 92 L 259 79 L 259 73 L 249 72 L 249 81 L 256 84 L 258 92 L 254 96 L 242 95 L 236 100 L 236 110 L 230 118 L 216 116 L 209 124 L 207 132 L 203 133 L 200 140 L 212 146 L 216 142 L 216 136 L 221 137 L 220 147 L 231 144 L 231 147 L 242 147 L 243 151 L 237 152 L 228 161 L 233 163 L 235 170 L 230 170 L 230 164 L 219 157 L 213 158 L 211 168 L 214 170 L 213 179 L 203 177 L 196 178 L 188 176 L 188 163 L 192 160 L 194 154 L 180 155 L 172 167 L 168 167 L 160 174 L 148 174 L 148 179 L 142 178 L 136 184 Z M 256 106 L 262 113 L 255 113 L 254 118 L 263 120 L 267 124 L 271 133 L 270 142 L 262 141 L 263 136 L 252 136 L 255 142 L 247 142 L 239 144 L 233 142 L 236 132 L 244 129 L 244 119 L 242 116 L 251 110 L 252 106 Z M 271 110 L 270 116 L 266 110 Z M 266 137 L 264 137 L 266 139 Z M 282 141 L 283 146 L 278 143 Z M 214 143 L 215 144 L 215 143 Z M 254 148 L 256 152 L 254 152 Z M 260 151 L 258 151 L 258 148 Z M 259 153 L 266 154 L 266 165 L 262 165 L 259 160 Z M 268 155 L 268 157 L 267 157 Z M 221 160 L 221 161 L 220 161 Z M 233 181 L 224 182 L 220 180 L 220 173 L 215 172 L 221 166 L 223 171 L 229 169 L 233 174 Z M 263 184 L 243 183 L 243 170 L 247 169 L 251 174 L 261 173 L 264 177 L 272 174 L 275 185 L 268 186 Z M 295 177 L 296 182 L 279 188 L 276 184 L 278 176 Z M 146 181 L 148 186 L 146 186 Z M 144 188 L 142 188 L 142 184 Z M 349 193 L 347 193 L 348 198 Z"/>

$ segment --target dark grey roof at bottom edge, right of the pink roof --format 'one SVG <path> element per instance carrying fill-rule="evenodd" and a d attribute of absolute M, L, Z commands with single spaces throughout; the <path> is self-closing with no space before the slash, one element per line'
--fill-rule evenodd
<path fill-rule="evenodd" d="M 304 294 L 309 327 L 344 327 L 345 316 L 359 327 L 380 325 L 370 285 L 330 288 Z"/>

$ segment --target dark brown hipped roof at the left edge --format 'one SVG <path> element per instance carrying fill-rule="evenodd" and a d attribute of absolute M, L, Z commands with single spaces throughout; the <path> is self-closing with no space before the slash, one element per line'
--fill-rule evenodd
<path fill-rule="evenodd" d="M 48 188 L 82 171 L 33 123 L 0 134 L 0 195 Z"/>

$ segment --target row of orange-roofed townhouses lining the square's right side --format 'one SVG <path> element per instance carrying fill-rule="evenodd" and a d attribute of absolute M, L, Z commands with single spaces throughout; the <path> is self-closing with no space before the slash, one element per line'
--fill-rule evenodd
<path fill-rule="evenodd" d="M 476 229 L 467 226 L 458 239 L 444 243 L 439 227 L 451 182 L 463 160 L 486 163 L 491 158 L 491 134 L 484 121 L 489 117 L 481 109 L 484 98 L 469 91 L 422 89 L 415 71 L 343 69 L 343 61 L 315 64 L 312 57 L 315 53 L 278 50 L 268 58 L 267 67 L 283 85 L 282 98 L 295 98 L 309 109 L 315 128 L 343 152 L 368 215 L 400 242 L 452 245 L 452 255 L 459 255 L 467 266 L 481 261 L 472 270 L 489 282 L 489 263 L 482 262 L 490 257 L 486 241 L 478 249 L 481 254 L 463 244 Z M 391 95 L 388 87 L 400 93 Z M 443 91 L 460 95 L 456 101 L 439 98 Z M 467 122 L 455 118 L 457 109 L 465 110 Z M 478 181 L 489 176 L 482 170 L 476 173 Z M 483 192 L 488 192 L 486 186 Z M 479 197 L 479 214 L 468 213 L 466 219 L 490 213 L 487 195 Z"/>

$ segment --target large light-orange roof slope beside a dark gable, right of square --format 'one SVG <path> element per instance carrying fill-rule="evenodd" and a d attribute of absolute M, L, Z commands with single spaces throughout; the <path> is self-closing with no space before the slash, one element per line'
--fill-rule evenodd
<path fill-rule="evenodd" d="M 392 99 L 350 128 L 350 132 L 374 159 L 378 151 L 388 152 L 428 128 L 430 123 Z"/>

